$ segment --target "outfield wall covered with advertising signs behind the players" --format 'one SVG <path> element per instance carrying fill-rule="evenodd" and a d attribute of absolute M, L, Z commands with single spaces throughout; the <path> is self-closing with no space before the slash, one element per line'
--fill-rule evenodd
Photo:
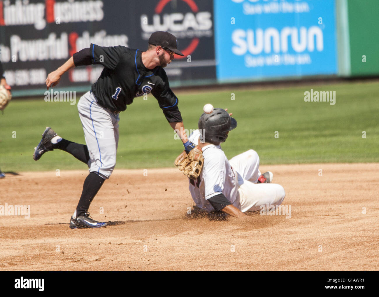
<path fill-rule="evenodd" d="M 379 74 L 377 0 L 0 0 L 0 59 L 13 96 L 43 96 L 74 52 L 145 50 L 169 31 L 184 57 L 171 86 Z M 371 29 L 372 27 L 372 29 Z M 75 68 L 59 90 L 86 91 L 102 66 Z"/>

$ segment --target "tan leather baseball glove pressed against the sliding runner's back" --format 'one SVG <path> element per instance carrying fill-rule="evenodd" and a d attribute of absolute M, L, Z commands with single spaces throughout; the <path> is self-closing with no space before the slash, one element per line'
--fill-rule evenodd
<path fill-rule="evenodd" d="M 203 168 L 204 157 L 198 146 L 188 154 L 183 151 L 175 160 L 175 166 L 190 179 L 197 179 Z"/>

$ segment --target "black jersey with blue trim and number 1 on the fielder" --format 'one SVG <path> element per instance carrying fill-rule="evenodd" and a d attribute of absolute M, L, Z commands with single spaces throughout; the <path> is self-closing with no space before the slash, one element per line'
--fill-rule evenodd
<path fill-rule="evenodd" d="M 135 97 L 152 93 L 169 122 L 181 122 L 178 99 L 169 86 L 164 69 L 147 69 L 141 50 L 124 46 L 91 44 L 91 63 L 104 69 L 91 90 L 98 103 L 111 111 L 124 111 Z"/>

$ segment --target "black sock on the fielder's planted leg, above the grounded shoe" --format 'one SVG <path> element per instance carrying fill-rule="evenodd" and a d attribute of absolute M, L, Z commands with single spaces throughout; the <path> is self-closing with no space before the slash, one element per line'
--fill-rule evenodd
<path fill-rule="evenodd" d="M 105 179 L 97 175 L 95 172 L 90 172 L 83 184 L 83 192 L 81 192 L 78 206 L 76 207 L 76 216 L 78 217 L 85 212 L 88 212 L 89 205 L 93 198 L 99 192 Z"/>

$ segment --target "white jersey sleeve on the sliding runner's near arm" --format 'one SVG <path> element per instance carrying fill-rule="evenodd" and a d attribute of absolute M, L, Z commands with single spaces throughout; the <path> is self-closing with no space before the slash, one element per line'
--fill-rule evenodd
<path fill-rule="evenodd" d="M 226 175 L 225 156 L 212 154 L 204 159 L 205 199 L 222 194 Z"/>

